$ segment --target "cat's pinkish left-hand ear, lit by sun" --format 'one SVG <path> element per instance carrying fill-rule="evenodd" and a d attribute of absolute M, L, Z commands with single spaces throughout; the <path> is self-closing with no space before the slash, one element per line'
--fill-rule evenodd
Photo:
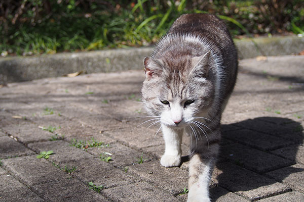
<path fill-rule="evenodd" d="M 162 64 L 160 61 L 150 59 L 148 57 L 145 57 L 143 59 L 143 65 L 144 65 L 144 72 L 145 72 L 147 80 L 150 80 L 150 79 L 156 77 L 163 70 Z"/>

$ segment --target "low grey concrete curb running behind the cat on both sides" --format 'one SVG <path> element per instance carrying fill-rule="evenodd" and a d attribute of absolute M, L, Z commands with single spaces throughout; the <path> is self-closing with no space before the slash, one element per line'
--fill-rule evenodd
<path fill-rule="evenodd" d="M 304 37 L 287 36 L 235 40 L 239 58 L 298 54 Z M 0 84 L 28 81 L 84 71 L 87 73 L 142 69 L 142 60 L 153 47 L 112 49 L 82 53 L 60 53 L 37 57 L 0 59 Z"/>

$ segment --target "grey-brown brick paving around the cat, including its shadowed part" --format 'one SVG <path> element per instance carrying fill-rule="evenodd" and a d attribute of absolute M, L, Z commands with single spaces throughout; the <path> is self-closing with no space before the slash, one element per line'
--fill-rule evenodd
<path fill-rule="evenodd" d="M 223 114 L 214 201 L 304 201 L 304 57 L 259 59 L 240 61 Z M 143 79 L 128 71 L 0 88 L 0 201 L 185 201 L 187 158 L 161 167 L 159 126 L 140 125 Z"/>

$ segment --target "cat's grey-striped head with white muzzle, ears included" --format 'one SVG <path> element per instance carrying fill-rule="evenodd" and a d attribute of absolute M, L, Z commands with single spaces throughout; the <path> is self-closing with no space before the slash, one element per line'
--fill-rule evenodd
<path fill-rule="evenodd" d="M 169 127 L 183 128 L 208 116 L 214 100 L 210 53 L 178 59 L 144 59 L 142 95 L 146 110 Z"/>

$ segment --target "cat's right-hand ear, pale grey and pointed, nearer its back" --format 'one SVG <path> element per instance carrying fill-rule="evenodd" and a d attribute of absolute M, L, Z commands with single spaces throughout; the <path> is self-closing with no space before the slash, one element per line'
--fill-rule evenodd
<path fill-rule="evenodd" d="M 191 73 L 193 76 L 207 77 L 209 71 L 210 52 L 203 56 L 193 57 L 191 65 L 193 69 Z"/>

